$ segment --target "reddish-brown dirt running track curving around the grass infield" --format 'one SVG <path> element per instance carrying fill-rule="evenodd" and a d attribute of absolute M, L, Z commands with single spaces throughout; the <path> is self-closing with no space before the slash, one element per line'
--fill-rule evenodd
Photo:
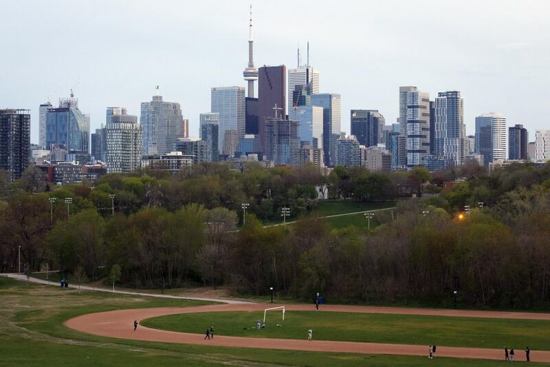
<path fill-rule="evenodd" d="M 274 305 L 279 306 L 279 305 Z M 254 337 L 226 337 L 216 335 L 210 341 L 204 340 L 203 335 L 191 333 L 177 333 L 162 331 L 144 326 L 138 326 L 133 331 L 133 320 L 142 320 L 150 317 L 173 315 L 177 313 L 198 313 L 212 311 L 263 311 L 265 304 L 216 304 L 209 306 L 193 306 L 186 308 L 164 307 L 143 308 L 137 310 L 118 310 L 102 313 L 91 313 L 69 319 L 65 325 L 77 331 L 118 337 L 122 339 L 136 339 L 148 342 L 170 342 L 181 344 L 198 344 L 204 346 L 232 346 L 246 348 L 286 349 L 286 350 L 314 350 L 340 353 L 369 353 L 391 355 L 428 355 L 428 346 L 408 344 L 381 344 L 360 342 L 330 342 L 298 339 L 267 339 Z M 288 311 L 313 311 L 313 306 L 296 304 L 286 306 Z M 491 311 L 459 311 L 434 310 L 421 308 L 391 308 L 391 307 L 362 307 L 362 306 L 329 306 L 320 308 L 323 311 L 357 312 L 357 313 L 399 313 L 412 315 L 443 315 L 461 317 L 495 317 L 520 319 L 550 319 L 545 313 L 508 313 Z M 488 348 L 458 348 L 437 346 L 437 355 L 441 357 L 503 359 L 503 350 Z M 525 353 L 518 350 L 516 361 L 525 361 Z M 531 361 L 550 362 L 550 350 L 531 350 Z"/>

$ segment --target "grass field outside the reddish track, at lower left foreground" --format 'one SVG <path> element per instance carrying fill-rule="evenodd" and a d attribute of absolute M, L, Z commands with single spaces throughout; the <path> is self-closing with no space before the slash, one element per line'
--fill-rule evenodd
<path fill-rule="evenodd" d="M 118 308 L 203 302 L 85 292 L 0 277 L 0 366 L 426 366 L 426 357 L 214 348 L 96 337 L 66 319 Z M 218 326 L 217 326 L 218 327 Z M 217 328 L 219 333 L 219 328 Z M 202 331 L 201 331 L 202 333 Z M 316 335 L 317 336 L 317 335 Z M 498 361 L 430 360 L 431 366 L 501 366 Z"/>

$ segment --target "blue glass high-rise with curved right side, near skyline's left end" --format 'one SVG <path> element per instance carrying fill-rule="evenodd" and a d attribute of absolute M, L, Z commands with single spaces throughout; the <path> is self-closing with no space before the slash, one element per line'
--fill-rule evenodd
<path fill-rule="evenodd" d="M 69 154 L 89 153 L 90 118 L 78 109 L 78 98 L 60 98 L 58 108 L 46 112 L 46 149 L 63 145 Z"/>

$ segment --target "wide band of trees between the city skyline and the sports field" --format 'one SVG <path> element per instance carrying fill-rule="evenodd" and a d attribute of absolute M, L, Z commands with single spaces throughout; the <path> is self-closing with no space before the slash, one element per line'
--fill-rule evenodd
<path fill-rule="evenodd" d="M 101 269 L 120 266 L 122 282 L 136 287 L 205 284 L 261 295 L 273 286 L 278 294 L 302 299 L 320 292 L 329 300 L 442 306 L 452 304 L 456 291 L 461 304 L 550 306 L 548 165 L 470 174 L 450 188 L 438 188 L 439 197 L 401 202 L 394 220 L 372 232 L 331 229 L 307 210 L 298 224 L 286 228 L 263 227 L 250 213 L 237 230 L 239 207 L 209 201 L 221 197 L 210 189 L 196 190 L 208 182 L 225 187 L 234 180 L 241 189 L 231 195 L 244 193 L 239 205 L 247 198 L 296 200 L 312 185 L 311 178 L 292 169 L 253 168 L 248 174 L 218 165 L 202 169 L 181 172 L 178 179 L 108 175 L 95 189 L 12 191 L 0 202 L 0 271 L 17 269 L 21 246 L 22 260 L 32 271 L 47 263 L 50 269 L 85 273 L 94 280 Z M 440 178 L 422 169 L 386 176 L 338 167 L 324 179 L 333 196 L 383 200 L 403 187 L 426 190 Z M 157 197 L 162 207 L 145 205 L 149 184 L 164 190 Z M 184 189 L 172 191 L 178 185 Z M 265 187 L 272 189 L 271 198 Z M 109 207 L 109 193 L 117 198 L 126 193 L 139 204 L 106 216 L 94 203 L 107 194 Z M 63 201 L 67 196 L 74 198 L 70 215 Z M 477 207 L 478 202 L 483 208 L 458 215 L 464 205 Z"/>

